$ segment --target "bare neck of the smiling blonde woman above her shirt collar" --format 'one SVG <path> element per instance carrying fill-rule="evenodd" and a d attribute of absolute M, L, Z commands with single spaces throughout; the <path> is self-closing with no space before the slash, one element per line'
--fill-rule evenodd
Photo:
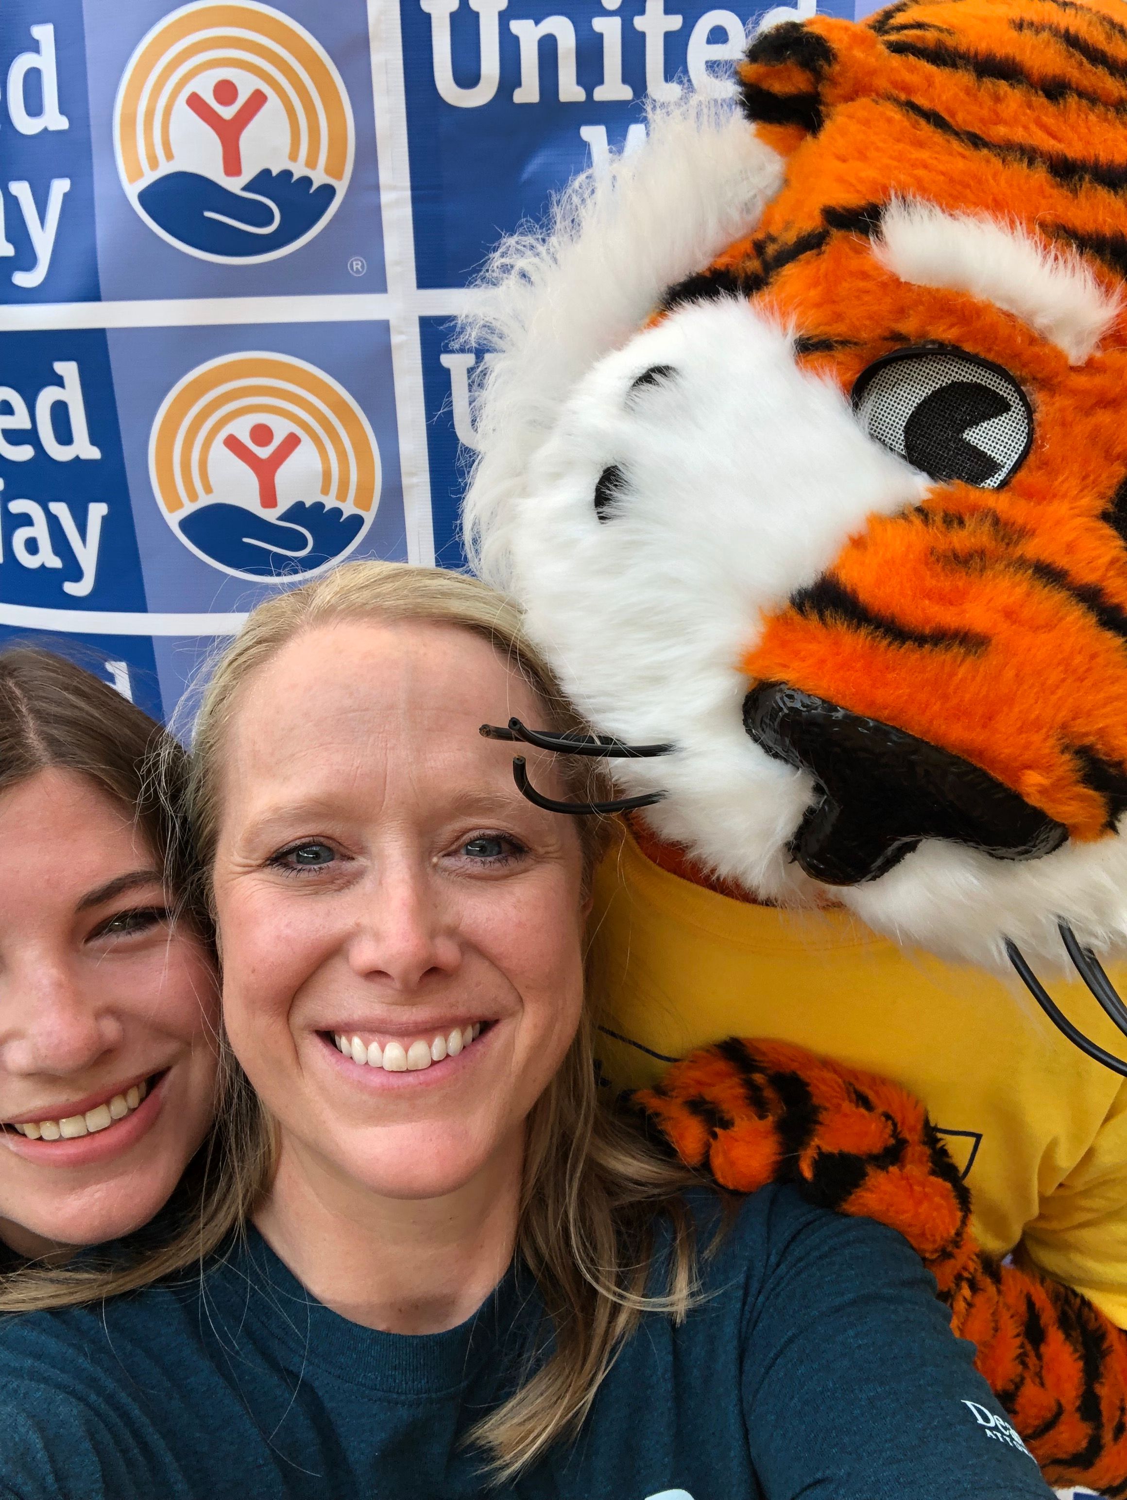
<path fill-rule="evenodd" d="M 509 1268 L 522 1132 L 437 1198 L 386 1198 L 300 1142 L 282 1140 L 255 1226 L 318 1302 L 387 1334 L 441 1334 L 471 1317 Z"/>

